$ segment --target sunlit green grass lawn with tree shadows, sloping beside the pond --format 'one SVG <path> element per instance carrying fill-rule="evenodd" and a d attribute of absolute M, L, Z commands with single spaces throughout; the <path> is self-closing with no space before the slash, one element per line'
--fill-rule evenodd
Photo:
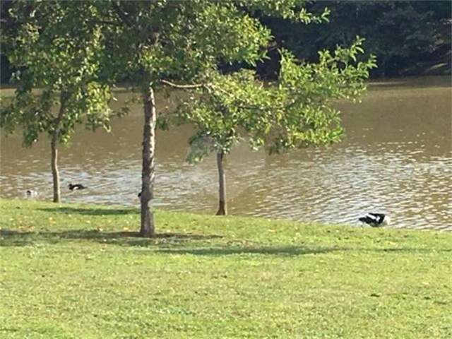
<path fill-rule="evenodd" d="M 452 233 L 0 200 L 0 338 L 452 338 Z"/>

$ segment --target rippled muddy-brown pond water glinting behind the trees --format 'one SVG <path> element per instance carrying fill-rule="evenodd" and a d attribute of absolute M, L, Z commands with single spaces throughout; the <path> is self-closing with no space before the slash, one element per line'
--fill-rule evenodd
<path fill-rule="evenodd" d="M 239 145 L 227 157 L 230 213 L 357 225 L 375 210 L 396 227 L 452 230 L 452 92 L 450 78 L 371 85 L 359 105 L 343 110 L 347 136 L 329 148 L 268 156 Z M 124 100 L 124 94 L 120 100 Z M 160 105 L 167 103 L 160 102 Z M 142 114 L 114 121 L 112 133 L 81 129 L 61 148 L 63 201 L 138 206 Z M 155 204 L 214 213 L 215 158 L 184 162 L 191 129 L 157 133 Z M 0 194 L 52 197 L 49 143 L 21 148 L 20 135 L 1 136 Z M 88 186 L 71 192 L 69 182 Z"/>

